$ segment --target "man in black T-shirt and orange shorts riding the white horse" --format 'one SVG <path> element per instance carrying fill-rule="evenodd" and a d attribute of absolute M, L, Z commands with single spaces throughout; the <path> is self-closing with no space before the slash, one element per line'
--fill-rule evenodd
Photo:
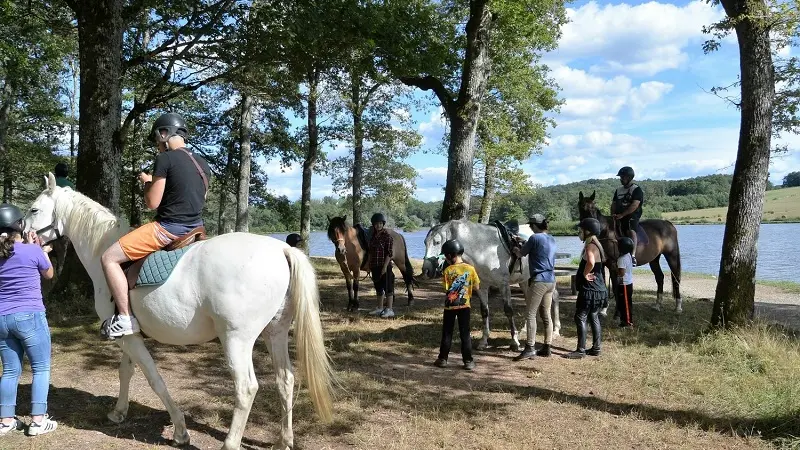
<path fill-rule="evenodd" d="M 144 183 L 144 200 L 155 209 L 152 222 L 144 224 L 113 243 L 101 258 L 106 282 L 117 313 L 103 322 L 101 335 L 114 339 L 139 332 L 131 315 L 128 280 L 122 264 L 161 250 L 172 241 L 203 225 L 211 169 L 200 156 L 186 149 L 189 130 L 178 114 L 161 115 L 153 123 L 150 138 L 158 147 L 153 174 L 139 174 Z"/>

